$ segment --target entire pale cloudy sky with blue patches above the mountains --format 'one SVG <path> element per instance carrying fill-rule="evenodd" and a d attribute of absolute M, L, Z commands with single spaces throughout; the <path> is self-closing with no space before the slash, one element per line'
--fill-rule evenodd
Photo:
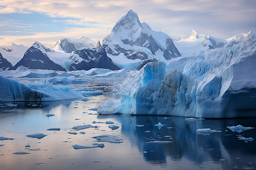
<path fill-rule="evenodd" d="M 0 0 L 0 45 L 51 47 L 80 36 L 102 41 L 130 9 L 174 39 L 192 29 L 223 39 L 256 32 L 255 0 Z"/>

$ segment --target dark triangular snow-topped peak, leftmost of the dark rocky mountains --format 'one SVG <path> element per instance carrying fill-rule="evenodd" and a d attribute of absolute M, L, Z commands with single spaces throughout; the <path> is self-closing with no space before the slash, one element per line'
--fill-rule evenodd
<path fill-rule="evenodd" d="M 53 52 L 52 49 L 47 48 L 40 42 L 36 41 L 27 51 L 24 56 L 13 67 L 16 70 L 19 66 L 28 67 L 28 69 L 46 69 L 65 71 L 63 67 L 53 62 L 47 56 L 47 52 Z"/>

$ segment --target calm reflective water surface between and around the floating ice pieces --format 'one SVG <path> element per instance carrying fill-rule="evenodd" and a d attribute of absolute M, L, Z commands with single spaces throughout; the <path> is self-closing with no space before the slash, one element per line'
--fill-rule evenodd
<path fill-rule="evenodd" d="M 64 100 L 51 102 L 0 103 L 0 136 L 14 138 L 0 141 L 0 169 L 253 169 L 256 168 L 256 129 L 232 132 L 227 126 L 256 127 L 255 118 L 186 121 L 184 117 L 98 115 L 90 111 L 109 98 L 118 98 L 111 91 L 121 79 L 87 79 L 87 83 L 69 84 L 71 88 L 91 88 L 104 95 L 88 97 L 89 101 Z M 14 105 L 10 105 L 14 104 Z M 46 117 L 46 114 L 55 114 Z M 92 114 L 91 114 L 92 113 Z M 79 120 L 75 120 L 79 119 Z M 119 126 L 111 130 L 106 124 Z M 155 124 L 165 124 L 158 129 Z M 68 134 L 73 126 L 97 125 L 85 134 Z M 142 126 L 143 125 L 143 126 Z M 60 131 L 47 131 L 60 128 Z M 197 134 L 199 128 L 220 130 L 210 135 Z M 150 131 L 150 132 L 148 132 Z M 43 133 L 42 139 L 26 135 Z M 92 138 L 108 134 L 122 143 L 104 143 L 104 148 L 75 150 L 72 145 L 92 146 Z M 154 141 L 166 141 L 154 143 Z M 152 143 L 153 142 L 153 143 Z M 98 142 L 100 143 L 100 142 Z M 30 145 L 28 150 L 25 145 Z M 36 149 L 36 150 L 35 150 Z M 15 155 L 25 151 L 30 154 Z"/>

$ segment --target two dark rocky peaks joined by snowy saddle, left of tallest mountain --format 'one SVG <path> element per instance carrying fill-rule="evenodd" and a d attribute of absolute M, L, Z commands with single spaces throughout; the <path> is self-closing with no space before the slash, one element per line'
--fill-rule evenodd
<path fill-rule="evenodd" d="M 47 48 L 36 41 L 24 54 L 23 58 L 13 67 L 28 67 L 29 69 L 47 69 L 47 70 L 89 70 L 92 68 L 102 68 L 110 70 L 119 70 L 115 66 L 98 42 L 96 48 L 80 48 L 72 53 L 56 52 Z"/>

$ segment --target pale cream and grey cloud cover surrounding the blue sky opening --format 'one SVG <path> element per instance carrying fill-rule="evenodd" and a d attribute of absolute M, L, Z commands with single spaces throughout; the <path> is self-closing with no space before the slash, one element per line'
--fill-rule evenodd
<path fill-rule="evenodd" d="M 76 32 L 77 36 L 85 34 L 94 40 L 102 40 L 108 35 L 115 22 L 130 9 L 137 12 L 141 21 L 148 23 L 152 29 L 166 32 L 172 37 L 187 37 L 192 28 L 200 33 L 222 38 L 248 32 L 250 29 L 256 32 L 254 0 L 3 0 L 0 1 L 0 6 L 0 14 L 38 12 L 50 18 L 60 18 L 52 20 L 72 27 L 85 25 L 90 28 L 69 28 L 69 31 L 56 35 L 74 36 L 71 30 L 76 30 L 81 31 Z M 97 34 L 98 31 L 100 34 Z M 36 39 L 36 36 L 40 38 L 40 35 L 46 35 L 53 38 L 53 34 L 55 33 L 35 33 L 32 37 Z M 29 39 L 32 37 L 28 36 Z M 25 40 L 24 37 L 20 37 L 21 39 Z M 49 43 L 45 41 L 46 44 Z"/>

